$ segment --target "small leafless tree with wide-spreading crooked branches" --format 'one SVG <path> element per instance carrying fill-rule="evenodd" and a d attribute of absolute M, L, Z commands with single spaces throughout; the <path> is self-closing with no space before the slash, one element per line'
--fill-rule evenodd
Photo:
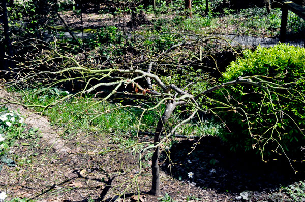
<path fill-rule="evenodd" d="M 164 112 L 160 116 L 154 131 L 154 145 L 146 146 L 138 152 L 139 173 L 137 173 L 133 179 L 127 181 L 135 183 L 139 193 L 140 188 L 137 184 L 137 180 L 142 174 L 142 154 L 149 149 L 154 150 L 151 165 L 153 184 L 150 193 L 161 195 L 158 165 L 160 146 L 174 134 L 178 127 L 183 126 L 194 117 L 199 117 L 199 112 L 213 113 L 215 115 L 219 114 L 220 117 L 224 111 L 226 113 L 235 112 L 234 114 L 240 115 L 244 120 L 245 124 L 243 128 L 247 128 L 247 137 L 254 141 L 253 149 L 256 148 L 256 145 L 259 145 L 257 149 L 263 156 L 266 150 L 265 145 L 272 142 L 272 144 L 277 147 L 275 151 L 279 154 L 284 154 L 291 164 L 293 159 L 289 156 L 289 153 L 284 145 L 282 145 L 282 142 L 279 141 L 283 134 L 278 129 L 281 127 L 285 128 L 287 119 L 289 119 L 295 124 L 295 130 L 303 137 L 297 141 L 303 142 L 305 138 L 302 129 L 303 126 L 300 121 L 301 119 L 295 119 L 299 117 L 291 117 L 288 114 L 282 113 L 283 110 L 281 110 L 281 107 L 283 107 L 285 103 L 281 102 L 287 102 L 287 100 L 289 100 L 289 102 L 304 106 L 304 98 L 302 95 L 304 89 L 300 89 L 305 81 L 304 73 L 298 71 L 297 74 L 293 74 L 293 76 L 288 78 L 285 77 L 285 67 L 283 67 L 284 70 L 281 71 L 284 72 L 284 75 L 282 76 L 277 76 L 278 74 L 273 75 L 271 73 L 269 75 L 262 75 L 251 71 L 248 72 L 247 75 L 243 75 L 243 71 L 240 70 L 236 71 L 237 73 L 234 72 L 234 76 L 227 77 L 229 78 L 227 80 L 216 79 L 210 77 L 208 74 L 203 74 L 204 76 L 198 77 L 197 84 L 190 82 L 185 86 L 178 86 L 176 83 L 171 83 L 170 79 L 166 79 L 166 77 L 162 75 L 162 72 L 159 71 L 158 73 L 154 68 L 158 65 L 162 65 L 168 58 L 189 54 L 182 50 L 182 48 L 188 46 L 194 47 L 195 45 L 192 43 L 181 43 L 172 46 L 162 53 L 146 57 L 146 61 L 142 63 L 133 63 L 126 66 L 118 64 L 109 65 L 111 62 L 107 63 L 107 61 L 104 61 L 102 64 L 90 62 L 90 60 L 83 62 L 78 60 L 76 56 L 68 54 L 62 48 L 43 46 L 43 48 L 39 48 L 41 51 L 39 56 L 34 56 L 27 64 L 19 64 L 19 68 L 16 69 L 18 73 L 16 74 L 15 79 L 12 80 L 11 83 L 8 83 L 8 85 L 19 87 L 44 86 L 46 89 L 65 85 L 70 85 L 75 88 L 78 86 L 78 90 L 75 90 L 73 94 L 68 94 L 53 103 L 46 105 L 25 105 L 27 107 L 40 107 L 43 108 L 43 110 L 47 110 L 72 97 L 82 96 L 84 94 L 93 94 L 102 99 L 102 101 L 111 99 L 117 94 L 123 97 L 148 96 L 150 99 L 154 99 L 155 103 L 153 105 L 139 105 L 136 103 L 134 105 L 120 106 L 134 107 L 142 110 L 142 114 L 139 118 L 137 135 L 139 135 L 140 123 L 143 115 L 146 112 L 156 110 L 162 104 L 165 104 L 166 107 L 164 108 Z M 247 64 L 245 66 L 247 67 Z M 271 65 L 270 71 L 272 68 L 273 66 Z M 300 68 L 304 68 L 304 66 L 300 66 Z M 198 86 L 198 84 L 201 86 Z M 257 102 L 259 105 L 267 107 L 269 110 L 266 113 L 261 113 L 261 108 L 253 108 L 253 110 L 249 110 L 251 112 L 250 114 L 247 111 L 247 108 L 250 108 L 250 106 L 247 106 L 249 103 L 243 103 L 241 99 L 239 99 L 242 96 L 232 97 L 234 95 L 229 90 L 231 87 L 242 88 L 242 90 L 247 89 L 247 93 L 254 93 L 262 96 L 263 99 L 259 97 Z M 223 98 L 220 98 L 221 96 Z M 285 97 L 287 100 L 279 99 L 279 97 Z M 4 98 L 1 99 L 5 100 Z M 230 103 L 231 99 L 235 100 L 237 104 L 234 105 Z M 10 101 L 6 100 L 6 102 L 9 103 Z M 168 120 L 175 113 L 177 107 L 180 106 L 187 108 L 184 120 L 175 123 L 170 128 L 167 127 Z M 303 114 L 303 112 L 300 111 L 303 110 L 303 108 L 299 108 L 298 110 L 298 113 Z M 83 113 L 85 114 L 85 111 Z M 97 113 L 97 116 L 103 113 L 107 112 L 100 111 Z M 265 115 L 265 117 L 262 115 Z M 253 123 L 249 119 L 250 116 L 261 118 L 260 129 L 265 132 L 256 133 L 257 128 L 252 127 Z M 273 118 L 270 119 L 270 116 Z M 199 122 L 201 122 L 200 118 Z"/>

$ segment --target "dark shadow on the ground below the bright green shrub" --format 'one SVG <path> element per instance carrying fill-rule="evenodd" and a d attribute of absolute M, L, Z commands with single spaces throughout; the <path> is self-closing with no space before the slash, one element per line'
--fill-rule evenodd
<path fill-rule="evenodd" d="M 264 163 L 259 155 L 253 153 L 231 152 L 218 137 L 203 137 L 188 155 L 196 142 L 183 140 L 174 143 L 170 149 L 170 159 L 174 165 L 169 167 L 169 160 L 165 160 L 166 154 L 163 154 L 165 163 L 161 168 L 168 173 L 171 169 L 176 179 L 231 194 L 245 190 L 271 192 L 305 179 L 304 169 L 299 167 L 301 170 L 295 174 L 285 158 Z"/>

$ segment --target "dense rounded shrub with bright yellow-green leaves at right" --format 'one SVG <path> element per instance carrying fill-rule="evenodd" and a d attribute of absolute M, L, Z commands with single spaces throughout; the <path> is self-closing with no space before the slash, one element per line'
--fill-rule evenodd
<path fill-rule="evenodd" d="M 222 110 L 215 110 L 231 131 L 222 137 L 232 150 L 254 148 L 263 158 L 273 156 L 273 152 L 292 155 L 305 140 L 304 48 L 279 44 L 272 48 L 258 47 L 253 52 L 246 50 L 243 58 L 232 62 L 223 73 L 221 82 L 254 75 L 258 82 L 260 79 L 278 85 L 291 84 L 285 86 L 289 90 L 269 88 L 270 95 L 267 90 L 245 84 L 217 91 L 214 99 L 233 109 L 217 105 Z"/>

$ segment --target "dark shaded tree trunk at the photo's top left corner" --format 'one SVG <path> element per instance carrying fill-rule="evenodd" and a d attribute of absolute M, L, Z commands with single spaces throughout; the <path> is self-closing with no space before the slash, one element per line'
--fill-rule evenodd
<path fill-rule="evenodd" d="M 7 7 L 6 7 L 6 0 L 1 1 L 1 7 L 2 7 L 2 18 L 3 18 L 3 34 L 4 34 L 4 43 L 3 43 L 3 48 L 6 46 L 7 52 L 8 52 L 8 58 L 4 58 L 4 50 L 1 51 L 2 53 L 2 60 L 4 61 L 3 64 L 3 70 L 8 71 L 9 69 L 14 69 L 14 62 L 13 62 L 13 46 L 12 42 L 10 39 L 10 33 L 9 33 L 9 22 L 8 22 L 8 13 L 7 13 Z"/>

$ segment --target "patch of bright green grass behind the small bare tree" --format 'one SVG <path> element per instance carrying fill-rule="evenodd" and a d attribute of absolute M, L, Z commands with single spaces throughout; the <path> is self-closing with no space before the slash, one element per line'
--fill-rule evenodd
<path fill-rule="evenodd" d="M 60 90 L 56 87 L 49 89 L 25 89 L 19 91 L 19 93 L 23 95 L 23 102 L 25 104 L 37 105 L 48 105 L 70 94 L 69 91 Z M 142 107 L 147 106 L 143 105 Z M 79 130 L 90 130 L 102 134 L 125 135 L 130 133 L 131 137 L 136 137 L 138 127 L 141 134 L 142 132 L 154 132 L 157 121 L 163 113 L 163 108 L 164 106 L 160 106 L 156 111 L 144 113 L 141 118 L 140 127 L 138 124 L 142 113 L 141 109 L 123 107 L 119 102 L 111 104 L 93 96 L 76 96 L 46 110 L 41 108 L 36 108 L 36 110 L 46 115 L 51 124 L 68 127 L 69 133 L 65 133 L 67 136 L 63 136 L 63 138 L 69 138 L 69 134 L 72 135 Z M 84 111 L 85 114 L 83 113 Z M 182 113 L 182 111 L 178 112 Z M 179 114 L 174 115 L 171 123 L 179 122 L 180 118 L 183 117 L 180 117 Z M 198 120 L 194 120 L 181 126 L 178 129 L 178 134 L 186 136 L 218 135 L 222 131 L 222 126 L 213 120 L 205 121 L 202 119 L 202 121 L 203 127 Z"/>

